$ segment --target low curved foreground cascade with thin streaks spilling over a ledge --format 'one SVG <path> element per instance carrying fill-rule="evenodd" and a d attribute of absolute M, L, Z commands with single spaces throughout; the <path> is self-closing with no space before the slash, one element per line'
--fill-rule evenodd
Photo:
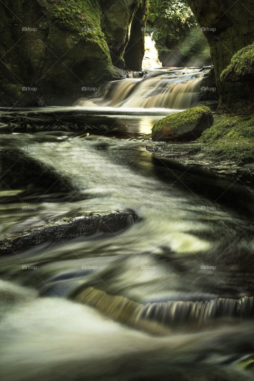
<path fill-rule="evenodd" d="M 149 327 L 154 333 L 162 331 L 163 326 L 173 328 L 193 325 L 201 328 L 216 318 L 229 318 L 233 322 L 251 319 L 254 316 L 253 296 L 141 304 L 123 296 L 108 295 L 105 291 L 88 287 L 74 293 L 74 298 L 95 307 L 111 319 L 136 328 Z"/>

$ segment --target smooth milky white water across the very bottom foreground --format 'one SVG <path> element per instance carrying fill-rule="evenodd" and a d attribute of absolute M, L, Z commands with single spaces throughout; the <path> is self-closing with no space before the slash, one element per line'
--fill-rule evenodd
<path fill-rule="evenodd" d="M 242 365 L 248 351 L 238 349 L 250 342 L 251 322 L 154 337 L 90 307 L 38 298 L 35 291 L 10 282 L 0 282 L 0 294 L 0 375 L 5 381 L 252 379 L 252 372 L 244 372 Z M 235 351 L 237 356 L 232 355 Z"/>

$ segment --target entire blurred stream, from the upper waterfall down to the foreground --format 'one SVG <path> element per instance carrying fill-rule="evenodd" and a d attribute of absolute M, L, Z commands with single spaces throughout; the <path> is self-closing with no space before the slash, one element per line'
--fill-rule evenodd
<path fill-rule="evenodd" d="M 198 99 L 199 70 L 164 71 L 79 104 L 110 131 L 1 135 L 13 163 L 2 163 L 1 239 L 66 217 L 137 216 L 2 256 L 3 379 L 253 379 L 254 189 L 145 149 L 166 106 Z"/>

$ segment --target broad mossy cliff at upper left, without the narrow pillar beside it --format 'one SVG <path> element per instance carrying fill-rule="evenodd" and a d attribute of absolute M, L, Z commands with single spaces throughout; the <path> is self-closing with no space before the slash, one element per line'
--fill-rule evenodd
<path fill-rule="evenodd" d="M 0 8 L 2 105 L 73 104 L 82 88 L 110 77 L 95 0 L 6 0 Z"/>

